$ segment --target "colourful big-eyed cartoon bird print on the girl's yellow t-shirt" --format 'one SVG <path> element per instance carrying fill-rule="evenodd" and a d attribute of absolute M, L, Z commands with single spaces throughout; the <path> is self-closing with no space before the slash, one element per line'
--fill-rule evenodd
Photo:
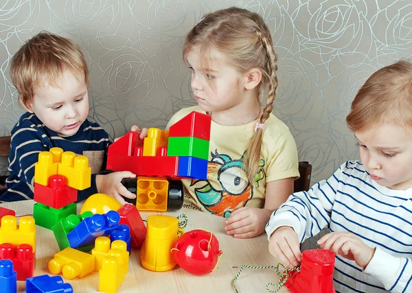
<path fill-rule="evenodd" d="M 264 179 L 262 167 L 266 163 L 260 160 L 258 175 L 254 186 L 259 187 L 259 181 Z M 207 164 L 207 179 L 192 180 L 196 197 L 212 214 L 229 218 L 231 212 L 244 207 L 253 198 L 253 186 L 247 179 L 244 170 L 243 156 L 233 160 L 229 155 L 219 154 L 218 150 L 211 153 Z"/>

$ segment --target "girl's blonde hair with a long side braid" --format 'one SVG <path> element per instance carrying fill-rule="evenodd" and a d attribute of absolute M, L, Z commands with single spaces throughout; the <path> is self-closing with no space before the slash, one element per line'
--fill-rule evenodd
<path fill-rule="evenodd" d="M 260 68 L 262 82 L 260 92 L 267 90 L 268 97 L 259 123 L 265 123 L 273 110 L 277 88 L 277 55 L 273 49 L 271 33 L 262 17 L 241 8 L 227 8 L 205 16 L 187 34 L 183 46 L 183 60 L 194 49 L 199 50 L 204 68 L 214 51 L 222 53 L 227 64 L 240 73 Z M 258 101 L 262 94 L 258 95 Z M 244 157 L 247 176 L 250 181 L 258 173 L 263 129 L 255 131 Z"/>

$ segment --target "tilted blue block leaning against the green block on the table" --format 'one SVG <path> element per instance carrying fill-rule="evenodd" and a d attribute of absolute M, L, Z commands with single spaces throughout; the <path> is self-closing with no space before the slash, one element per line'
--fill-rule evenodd
<path fill-rule="evenodd" d="M 70 247 L 78 249 L 80 247 L 93 245 L 95 239 L 100 236 L 108 236 L 119 225 L 120 216 L 115 211 L 108 211 L 107 214 L 94 214 L 90 218 L 85 218 L 69 234 Z"/>

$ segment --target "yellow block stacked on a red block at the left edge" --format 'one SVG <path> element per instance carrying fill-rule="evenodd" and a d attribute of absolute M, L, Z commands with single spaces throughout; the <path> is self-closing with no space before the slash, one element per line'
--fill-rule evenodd
<path fill-rule="evenodd" d="M 14 263 L 16 279 L 33 277 L 36 253 L 36 226 L 34 218 L 23 216 L 19 227 L 14 216 L 3 216 L 0 227 L 0 259 Z M 8 270 L 8 268 L 5 268 Z"/>

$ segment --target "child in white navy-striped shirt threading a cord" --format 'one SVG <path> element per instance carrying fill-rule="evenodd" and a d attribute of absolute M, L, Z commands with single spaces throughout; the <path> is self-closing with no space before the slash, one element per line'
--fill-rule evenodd
<path fill-rule="evenodd" d="M 371 75 L 346 120 L 361 162 L 290 195 L 266 225 L 269 251 L 293 268 L 299 242 L 329 227 L 317 244 L 336 254 L 336 292 L 412 292 L 412 64 Z"/>

